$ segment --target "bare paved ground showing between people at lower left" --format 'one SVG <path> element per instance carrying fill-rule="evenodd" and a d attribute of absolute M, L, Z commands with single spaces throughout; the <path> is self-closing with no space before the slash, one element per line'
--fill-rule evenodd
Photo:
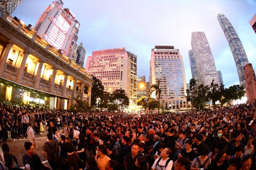
<path fill-rule="evenodd" d="M 50 167 L 48 161 L 45 160 L 43 154 L 42 154 L 42 148 L 44 146 L 44 143 L 46 142 L 47 137 L 46 137 L 46 133 L 42 134 L 42 135 L 37 135 L 36 134 L 36 144 L 37 144 L 37 148 L 36 148 L 36 153 L 40 156 L 41 161 L 44 163 L 44 165 L 47 165 L 48 167 Z M 24 168 L 23 162 L 22 162 L 22 156 L 24 155 L 24 153 L 26 153 L 26 150 L 24 148 L 24 142 L 28 141 L 28 139 L 20 139 L 20 140 L 14 140 L 13 142 L 7 142 L 7 144 L 9 145 L 10 148 L 10 153 L 14 154 L 16 156 L 16 158 L 18 159 L 18 164 L 21 168 Z M 1 148 L 0 148 L 0 154 L 2 155 L 2 144 Z"/>

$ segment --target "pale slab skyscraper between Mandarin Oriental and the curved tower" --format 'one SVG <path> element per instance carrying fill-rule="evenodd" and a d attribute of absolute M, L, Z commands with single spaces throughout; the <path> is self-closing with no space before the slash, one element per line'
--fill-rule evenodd
<path fill-rule="evenodd" d="M 198 83 L 210 85 L 214 80 L 214 83 L 219 84 L 212 51 L 204 32 L 192 32 L 191 46 L 198 72 Z"/>

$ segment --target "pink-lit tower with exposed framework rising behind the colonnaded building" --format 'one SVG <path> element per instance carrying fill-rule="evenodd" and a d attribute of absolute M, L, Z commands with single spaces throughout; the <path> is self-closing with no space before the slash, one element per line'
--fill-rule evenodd
<path fill-rule="evenodd" d="M 68 8 L 63 8 L 62 0 L 58 0 L 44 10 L 33 30 L 72 61 L 76 61 L 79 25 L 74 14 Z"/>

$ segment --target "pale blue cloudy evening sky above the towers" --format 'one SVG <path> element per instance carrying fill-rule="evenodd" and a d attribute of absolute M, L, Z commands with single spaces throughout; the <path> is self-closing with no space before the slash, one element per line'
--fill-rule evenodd
<path fill-rule="evenodd" d="M 11 14 L 26 25 L 36 24 L 53 0 L 23 0 Z M 249 63 L 256 69 L 256 34 L 249 22 L 256 13 L 256 0 L 63 0 L 80 22 L 78 44 L 83 42 L 86 59 L 92 51 L 125 47 L 137 55 L 137 75 L 150 74 L 151 49 L 173 45 L 180 50 L 186 82 L 192 78 L 188 51 L 191 33 L 205 32 L 216 69 L 226 88 L 239 84 L 234 58 L 217 20 L 223 13 L 236 30 Z M 84 65 L 86 63 L 86 59 Z"/>

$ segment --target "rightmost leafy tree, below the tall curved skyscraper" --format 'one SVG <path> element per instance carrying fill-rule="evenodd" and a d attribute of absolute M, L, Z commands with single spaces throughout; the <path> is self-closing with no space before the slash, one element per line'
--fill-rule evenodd
<path fill-rule="evenodd" d="M 241 99 L 245 94 L 244 86 L 232 85 L 228 89 L 224 90 L 224 98 L 231 105 L 233 100 Z"/>

